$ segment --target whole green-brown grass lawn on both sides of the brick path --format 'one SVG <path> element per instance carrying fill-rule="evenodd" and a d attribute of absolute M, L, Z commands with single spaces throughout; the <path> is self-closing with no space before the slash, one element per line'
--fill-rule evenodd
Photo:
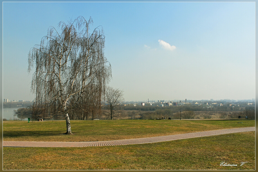
<path fill-rule="evenodd" d="M 238 123 L 243 122 L 243 123 Z M 102 141 L 255 126 L 255 120 L 4 122 L 3 140 Z M 221 162 L 237 166 L 220 166 Z M 241 166 L 241 162 L 247 162 Z M 254 170 L 255 132 L 122 146 L 3 147 L 4 170 Z"/>

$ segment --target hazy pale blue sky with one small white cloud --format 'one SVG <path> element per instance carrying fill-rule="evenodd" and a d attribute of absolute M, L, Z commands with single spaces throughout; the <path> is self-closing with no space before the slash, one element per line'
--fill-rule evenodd
<path fill-rule="evenodd" d="M 255 98 L 254 2 L 4 2 L 3 98 L 34 99 L 30 48 L 80 15 L 103 27 L 125 100 Z"/>

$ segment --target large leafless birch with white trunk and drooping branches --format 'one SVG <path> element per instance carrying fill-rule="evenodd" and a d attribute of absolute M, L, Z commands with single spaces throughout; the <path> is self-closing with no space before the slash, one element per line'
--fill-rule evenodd
<path fill-rule="evenodd" d="M 63 114 L 65 134 L 72 134 L 69 110 L 80 103 L 88 87 L 96 85 L 103 91 L 111 77 L 103 29 L 99 26 L 90 33 L 92 23 L 91 18 L 86 21 L 82 16 L 67 24 L 60 21 L 58 29 L 50 27 L 28 54 L 28 72 L 35 69 L 31 85 L 34 104 L 51 111 L 45 118 Z"/>

